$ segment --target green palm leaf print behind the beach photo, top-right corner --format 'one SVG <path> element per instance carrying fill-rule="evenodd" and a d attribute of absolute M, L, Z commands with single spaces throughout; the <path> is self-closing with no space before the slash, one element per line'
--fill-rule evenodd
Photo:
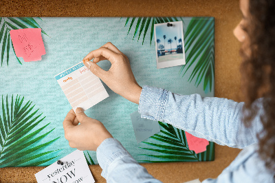
<path fill-rule="evenodd" d="M 127 17 L 124 27 L 126 27 L 129 21 L 131 21 L 128 34 L 133 27 L 135 19 L 137 19 L 137 23 L 135 25 L 133 39 L 135 38 L 135 35 L 140 28 L 137 42 L 140 40 L 140 35 L 144 31 L 142 45 L 144 44 L 145 36 L 150 29 L 150 45 L 152 44 L 155 23 L 182 21 L 185 26 L 184 19 L 181 17 L 133 17 L 132 20 L 131 17 Z M 195 86 L 198 87 L 201 83 L 201 80 L 203 80 L 203 90 L 207 92 L 209 88 L 211 92 L 212 85 L 214 83 L 214 19 L 203 17 L 192 18 L 190 23 L 188 23 L 186 32 L 184 34 L 184 43 L 184 49 L 187 53 L 186 65 L 181 67 L 179 73 L 183 73 L 182 76 L 185 76 L 188 69 L 190 69 L 192 65 L 195 65 L 191 75 L 188 78 L 188 81 L 191 83 L 193 78 L 197 76 L 195 80 Z"/>

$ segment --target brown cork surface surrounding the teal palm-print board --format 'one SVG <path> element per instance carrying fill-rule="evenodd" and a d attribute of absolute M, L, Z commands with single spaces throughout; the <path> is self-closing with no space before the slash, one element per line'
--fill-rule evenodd
<path fill-rule="evenodd" d="M 35 5 L 34 5 L 35 4 Z M 165 4 L 165 6 L 164 6 Z M 104 6 L 106 5 L 106 6 Z M 232 34 L 241 19 L 239 1 L 2 1 L 0 17 L 214 17 L 215 18 L 215 96 L 239 98 L 239 43 Z M 124 7 L 123 9 L 121 7 Z M 140 11 L 144 10 L 144 11 Z M 185 182 L 217 177 L 234 160 L 239 149 L 216 145 L 214 162 L 142 164 L 162 182 Z M 1 182 L 36 182 L 34 173 L 43 167 L 0 169 Z M 100 166 L 90 166 L 97 182 L 104 182 Z"/>

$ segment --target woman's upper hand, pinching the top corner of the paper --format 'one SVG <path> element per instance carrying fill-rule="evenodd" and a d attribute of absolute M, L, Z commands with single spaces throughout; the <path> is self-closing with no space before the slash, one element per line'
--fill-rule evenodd
<path fill-rule="evenodd" d="M 91 61 L 93 58 L 94 61 Z M 111 68 L 108 71 L 104 71 L 96 64 L 103 60 L 111 62 Z M 137 84 L 133 76 L 129 59 L 115 45 L 109 42 L 98 50 L 91 51 L 83 58 L 83 62 L 113 92 L 133 103 L 139 103 L 142 87 Z"/>

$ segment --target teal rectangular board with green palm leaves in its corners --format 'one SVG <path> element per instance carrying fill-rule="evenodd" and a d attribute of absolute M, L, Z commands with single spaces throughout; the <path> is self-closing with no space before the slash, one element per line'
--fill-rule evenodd
<path fill-rule="evenodd" d="M 192 149 L 192 145 L 188 144 L 189 133 L 183 130 L 162 122 L 153 122 L 153 125 L 161 130 L 155 132 L 157 134 L 151 133 L 153 127 L 146 128 L 142 127 L 143 125 L 133 127 L 131 119 L 135 121 L 138 116 L 134 115 L 135 118 L 133 118 L 131 115 L 130 119 L 130 114 L 137 111 L 138 105 L 115 94 L 107 85 L 102 85 L 100 79 L 95 79 L 83 63 L 79 62 L 90 50 L 96 50 L 110 41 L 128 56 L 135 79 L 141 86 L 165 88 L 176 94 L 200 94 L 203 97 L 213 97 L 213 17 L 2 17 L 0 21 L 0 27 L 3 30 L 0 36 L 4 32 L 4 35 L 8 35 L 6 38 L 4 36 L 3 40 L 7 41 L 2 41 L 3 46 L 0 45 L 3 57 L 7 57 L 6 60 L 3 59 L 3 65 L 1 62 L 0 81 L 9 83 L 9 85 L 1 86 L 1 95 L 4 96 L 5 101 L 0 102 L 0 110 L 3 111 L 3 114 L 0 114 L 0 127 L 3 125 L 0 134 L 0 168 L 48 166 L 75 151 L 63 138 L 62 122 L 70 109 L 76 109 L 76 106 L 85 108 L 83 100 L 87 100 L 86 98 L 89 98 L 87 103 L 91 105 L 98 103 L 100 97 L 106 98 L 90 109 L 87 107 L 85 113 L 91 118 L 100 120 L 137 162 L 214 160 L 214 142 L 206 142 L 204 146 L 206 151 L 195 153 L 192 151 L 195 150 Z M 24 62 L 21 58 L 17 60 L 14 53 L 10 52 L 13 49 L 8 48 L 13 45 L 10 45 L 9 39 L 14 35 L 13 32 L 16 32 L 14 29 L 32 28 L 28 27 L 28 23 L 32 21 L 41 27 L 47 54 L 41 57 L 41 61 L 26 63 L 25 58 Z M 162 22 L 175 22 L 177 25 L 168 28 L 167 24 Z M 152 44 L 154 43 L 152 42 L 153 36 L 149 36 L 153 34 L 154 24 L 161 26 L 161 29 L 166 29 L 165 32 L 156 36 L 159 42 L 156 46 L 163 47 L 166 51 L 168 49 L 174 51 L 173 54 L 158 55 L 160 62 L 157 63 L 155 45 Z M 86 26 L 83 27 L 83 25 Z M 146 26 L 142 27 L 142 25 Z M 35 25 L 32 26 L 36 28 Z M 90 28 L 96 28 L 96 30 L 91 31 Z M 13 29 L 10 30 L 10 35 L 7 34 L 9 29 Z M 41 35 L 41 30 L 19 29 L 19 31 L 28 30 L 37 31 L 37 35 Z M 184 32 L 185 36 L 175 34 L 175 30 Z M 140 32 L 139 35 L 144 33 L 145 36 L 139 36 L 138 41 L 137 35 L 133 39 L 132 35 L 135 35 L 135 32 Z M 36 34 L 30 34 L 32 37 L 34 35 Z M 193 37 L 197 39 L 194 40 Z M 30 40 L 28 33 L 24 34 L 24 38 L 24 40 Z M 186 45 L 184 50 L 181 50 L 182 45 L 178 42 L 184 42 Z M 5 49 L 5 44 L 7 49 Z M 177 52 L 174 50 L 176 46 Z M 14 50 L 15 48 L 14 44 Z M 27 53 L 27 49 L 25 52 Z M 30 59 L 30 56 L 27 58 Z M 184 58 L 184 56 L 185 65 L 174 65 L 165 69 L 156 67 L 163 63 L 166 66 L 171 63 L 175 64 L 173 62 L 175 58 L 179 61 L 179 58 Z M 168 59 L 174 60 L 166 61 Z M 19 65 L 19 61 L 22 65 Z M 103 69 L 108 69 L 108 65 L 111 64 L 102 61 L 98 65 Z M 69 67 L 71 68 L 64 71 Z M 198 74 L 195 74 L 196 72 Z M 98 86 L 99 88 L 94 90 Z M 89 89 L 91 89 L 90 92 Z M 27 105 L 28 102 L 25 102 L 23 98 L 30 100 L 35 106 Z M 36 110 L 39 111 L 34 114 Z M 43 114 L 39 116 L 41 113 Z M 9 119 L 11 125 L 9 125 Z M 149 123 L 146 122 L 146 124 Z M 24 130 L 20 131 L 20 129 Z M 151 137 L 146 138 L 146 134 L 140 134 L 140 137 L 144 139 L 137 142 L 135 135 L 144 129 L 147 133 L 151 133 L 149 134 Z M 174 139 L 173 142 L 168 140 L 170 138 Z M 175 151 L 175 144 L 177 144 L 177 151 Z M 163 151 L 163 149 L 168 151 Z M 170 153 L 171 150 L 173 153 Z M 10 154 L 10 152 L 13 153 Z M 84 151 L 84 153 L 89 163 L 98 164 L 95 151 Z"/>

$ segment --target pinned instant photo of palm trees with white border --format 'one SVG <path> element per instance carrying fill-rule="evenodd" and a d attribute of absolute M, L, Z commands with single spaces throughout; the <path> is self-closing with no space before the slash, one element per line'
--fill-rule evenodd
<path fill-rule="evenodd" d="M 185 64 L 182 21 L 158 23 L 155 27 L 157 69 Z"/>

